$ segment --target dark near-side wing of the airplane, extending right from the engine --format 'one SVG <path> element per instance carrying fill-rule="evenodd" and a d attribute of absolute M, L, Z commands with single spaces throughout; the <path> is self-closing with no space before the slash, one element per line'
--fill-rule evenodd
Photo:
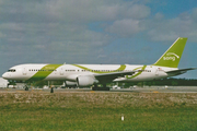
<path fill-rule="evenodd" d="M 94 74 L 94 78 L 99 80 L 101 83 L 112 82 L 113 80 L 125 76 L 132 75 L 137 71 L 124 71 L 124 72 L 112 72 L 112 73 L 103 73 L 103 74 Z"/>

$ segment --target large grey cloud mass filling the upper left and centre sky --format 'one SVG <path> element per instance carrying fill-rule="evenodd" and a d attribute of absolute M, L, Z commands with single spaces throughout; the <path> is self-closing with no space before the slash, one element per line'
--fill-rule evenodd
<path fill-rule="evenodd" d="M 138 19 L 150 14 L 148 7 L 121 0 L 8 0 L 0 7 L 0 37 L 4 44 L 35 49 L 61 44 L 66 49 L 68 45 L 89 50 L 102 47 L 113 39 L 111 34 L 129 37 L 139 33 L 142 27 Z M 89 23 L 97 21 L 107 25 L 103 26 L 107 32 L 89 28 Z"/>

